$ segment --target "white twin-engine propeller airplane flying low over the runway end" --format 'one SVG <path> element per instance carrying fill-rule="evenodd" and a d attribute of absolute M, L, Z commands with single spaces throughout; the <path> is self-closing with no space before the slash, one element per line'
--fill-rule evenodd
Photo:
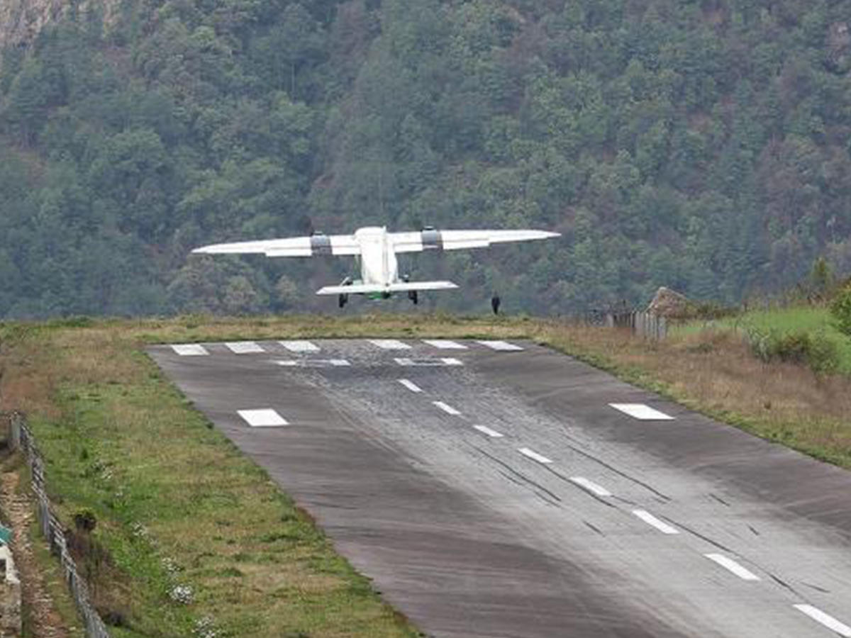
<path fill-rule="evenodd" d="M 317 294 L 339 295 L 339 305 L 346 305 L 350 294 L 366 294 L 374 299 L 389 299 L 393 293 L 408 293 L 417 303 L 418 290 L 458 288 L 453 282 L 409 282 L 399 277 L 397 253 L 420 253 L 427 250 L 460 250 L 487 248 L 492 243 L 527 242 L 557 237 L 549 231 L 436 231 L 426 226 L 419 232 L 387 232 L 386 227 L 359 228 L 353 235 L 323 235 L 267 239 L 259 242 L 216 243 L 196 248 L 203 254 L 265 254 L 266 257 L 312 257 L 314 255 L 353 255 L 360 259 L 361 278 L 346 277 L 340 286 L 326 286 Z"/>

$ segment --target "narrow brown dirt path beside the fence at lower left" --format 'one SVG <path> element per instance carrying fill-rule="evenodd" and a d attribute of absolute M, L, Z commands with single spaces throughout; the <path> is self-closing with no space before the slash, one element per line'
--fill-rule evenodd
<path fill-rule="evenodd" d="M 0 510 L 14 530 L 12 551 L 21 584 L 24 618 L 32 638 L 71 638 L 65 622 L 56 611 L 45 584 L 44 574 L 32 552 L 27 531 L 33 518 L 31 497 L 18 493 L 20 476 L 16 471 L 0 474 Z"/>

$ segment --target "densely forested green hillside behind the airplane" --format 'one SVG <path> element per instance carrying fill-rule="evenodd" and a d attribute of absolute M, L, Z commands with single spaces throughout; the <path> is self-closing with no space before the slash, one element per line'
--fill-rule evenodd
<path fill-rule="evenodd" d="M 358 225 L 563 233 L 409 259 L 450 309 L 851 271 L 848 0 L 69 5 L 3 51 L 0 316 L 335 310 L 345 259 L 188 253 Z"/>

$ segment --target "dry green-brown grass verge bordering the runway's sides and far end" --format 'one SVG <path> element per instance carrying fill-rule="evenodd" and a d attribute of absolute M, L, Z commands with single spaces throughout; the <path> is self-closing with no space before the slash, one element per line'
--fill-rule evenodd
<path fill-rule="evenodd" d="M 3 407 L 30 416 L 54 501 L 114 635 L 417 635 L 142 351 L 151 342 L 367 336 L 534 339 L 851 467 L 851 379 L 757 361 L 730 330 L 654 344 L 522 317 L 5 324 Z M 75 528 L 75 515 L 94 529 Z"/>

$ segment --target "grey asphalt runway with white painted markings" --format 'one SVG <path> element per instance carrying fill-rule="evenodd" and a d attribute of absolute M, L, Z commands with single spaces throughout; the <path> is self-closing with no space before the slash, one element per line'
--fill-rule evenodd
<path fill-rule="evenodd" d="M 851 637 L 851 473 L 568 356 L 148 351 L 428 635 Z"/>

